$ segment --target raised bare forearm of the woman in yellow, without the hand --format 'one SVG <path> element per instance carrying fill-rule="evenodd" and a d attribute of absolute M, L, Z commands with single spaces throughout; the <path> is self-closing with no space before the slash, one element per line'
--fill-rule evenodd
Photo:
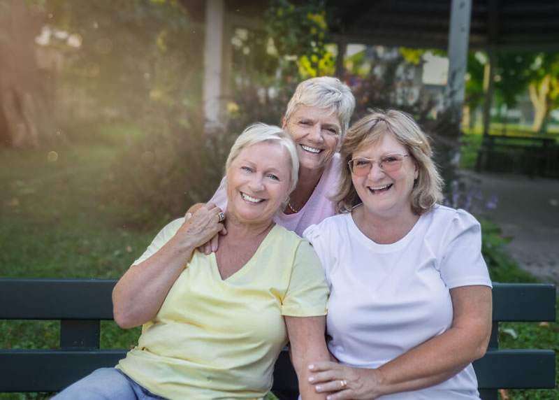
<path fill-rule="evenodd" d="M 193 246 L 168 241 L 144 262 L 126 271 L 112 291 L 113 314 L 120 327 L 151 320 L 190 259 Z"/>

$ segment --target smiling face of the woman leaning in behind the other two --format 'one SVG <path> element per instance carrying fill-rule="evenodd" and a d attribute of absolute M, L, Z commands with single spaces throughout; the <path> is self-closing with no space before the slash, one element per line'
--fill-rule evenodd
<path fill-rule="evenodd" d="M 340 140 L 341 124 L 335 112 L 300 104 L 283 129 L 297 143 L 301 169 L 322 169 L 330 161 Z"/>

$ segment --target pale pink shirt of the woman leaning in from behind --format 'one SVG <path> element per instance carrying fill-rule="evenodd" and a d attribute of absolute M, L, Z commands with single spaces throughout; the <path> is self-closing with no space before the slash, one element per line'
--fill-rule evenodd
<path fill-rule="evenodd" d="M 340 164 L 340 153 L 335 153 L 330 162 L 326 164 L 319 183 L 305 206 L 294 214 L 279 211 L 274 217 L 274 222 L 288 231 L 294 231 L 299 236 L 303 236 L 303 231 L 310 225 L 318 224 L 324 218 L 335 215 L 335 203 L 329 198 L 335 194 L 337 183 L 340 180 Z M 227 208 L 226 177 L 222 179 L 222 183 L 219 184 L 210 201 L 222 210 Z"/>

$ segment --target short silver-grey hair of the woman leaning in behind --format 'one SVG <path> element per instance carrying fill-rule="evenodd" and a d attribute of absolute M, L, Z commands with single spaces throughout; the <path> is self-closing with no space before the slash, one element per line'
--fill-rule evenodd
<path fill-rule="evenodd" d="M 355 108 L 355 97 L 345 83 L 332 76 L 310 78 L 299 83 L 293 97 L 287 104 L 285 122 L 299 105 L 332 110 L 340 120 L 342 137 L 349 127 L 349 119 Z"/>

